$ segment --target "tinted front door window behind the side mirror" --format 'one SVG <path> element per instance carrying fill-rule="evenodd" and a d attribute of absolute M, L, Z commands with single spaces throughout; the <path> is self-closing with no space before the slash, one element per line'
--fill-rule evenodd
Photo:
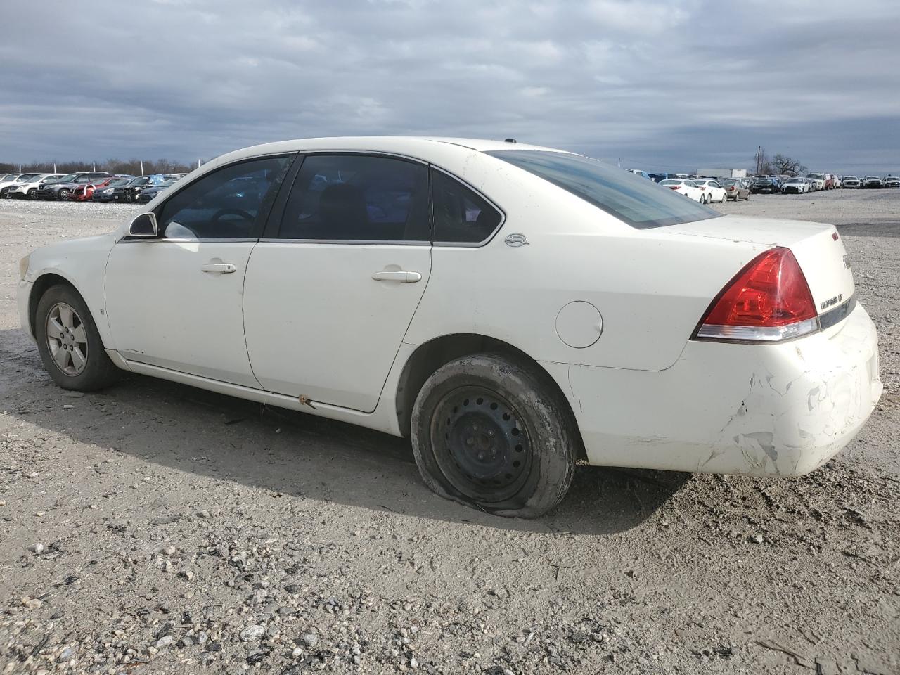
<path fill-rule="evenodd" d="M 293 157 L 225 166 L 173 194 L 157 211 L 162 238 L 257 238 Z"/>

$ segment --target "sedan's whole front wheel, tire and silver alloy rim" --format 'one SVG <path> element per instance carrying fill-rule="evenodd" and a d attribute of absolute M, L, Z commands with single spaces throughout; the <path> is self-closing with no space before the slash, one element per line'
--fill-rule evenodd
<path fill-rule="evenodd" d="M 34 333 L 44 368 L 63 389 L 94 392 L 119 379 L 91 312 L 71 286 L 51 286 L 40 297 Z"/>

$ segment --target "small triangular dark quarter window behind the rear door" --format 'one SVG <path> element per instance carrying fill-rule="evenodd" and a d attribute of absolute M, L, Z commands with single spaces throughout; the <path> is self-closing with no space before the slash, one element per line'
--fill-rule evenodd
<path fill-rule="evenodd" d="M 481 243 L 503 218 L 480 194 L 435 169 L 431 170 L 431 200 L 435 243 Z"/>

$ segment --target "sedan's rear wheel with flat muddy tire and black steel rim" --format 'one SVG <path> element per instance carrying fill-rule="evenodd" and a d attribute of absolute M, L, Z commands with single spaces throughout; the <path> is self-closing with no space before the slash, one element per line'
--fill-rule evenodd
<path fill-rule="evenodd" d="M 442 365 L 412 411 L 412 450 L 428 487 L 498 516 L 538 518 L 572 483 L 581 437 L 550 376 L 497 354 Z"/>

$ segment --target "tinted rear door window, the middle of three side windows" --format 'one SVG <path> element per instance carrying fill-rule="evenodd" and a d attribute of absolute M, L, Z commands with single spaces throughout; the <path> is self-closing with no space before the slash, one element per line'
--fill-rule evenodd
<path fill-rule="evenodd" d="M 306 157 L 278 237 L 428 242 L 428 168 L 394 157 Z"/>

